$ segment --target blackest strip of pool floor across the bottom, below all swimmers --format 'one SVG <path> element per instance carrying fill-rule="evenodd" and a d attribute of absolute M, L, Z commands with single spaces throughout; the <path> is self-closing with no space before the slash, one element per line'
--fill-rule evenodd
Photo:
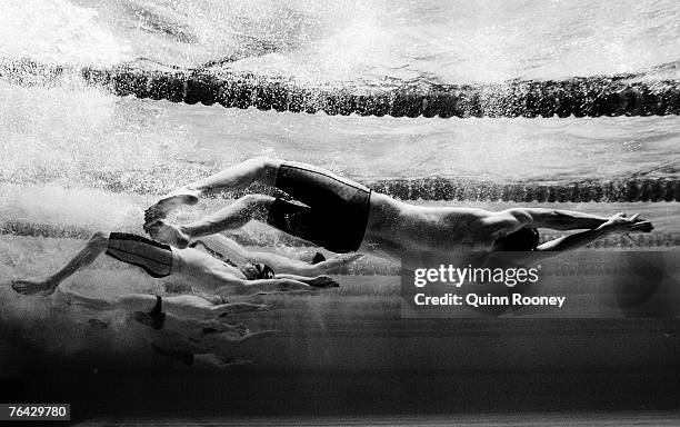
<path fill-rule="evenodd" d="M 6 379 L 4 401 L 70 403 L 90 417 L 522 415 L 677 410 L 677 369 L 591 368 L 428 371 L 90 373 Z M 649 419 L 649 418 L 648 418 Z"/>

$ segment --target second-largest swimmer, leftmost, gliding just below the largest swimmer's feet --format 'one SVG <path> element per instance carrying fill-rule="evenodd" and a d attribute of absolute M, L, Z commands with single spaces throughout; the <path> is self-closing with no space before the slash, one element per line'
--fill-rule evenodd
<path fill-rule="evenodd" d="M 111 232 L 96 232 L 86 246 L 59 271 L 42 280 L 14 280 L 12 288 L 19 294 L 51 295 L 57 287 L 76 271 L 91 265 L 100 255 L 107 254 L 120 261 L 141 267 L 149 276 L 163 278 L 173 276 L 199 286 L 203 291 L 217 295 L 252 295 L 287 290 L 311 290 L 314 288 L 337 287 L 329 276 L 306 277 L 292 274 L 274 274 L 273 269 L 261 262 L 247 262 L 240 267 L 217 259 L 196 248 L 177 249 L 147 238 Z M 260 255 L 260 258 L 263 256 Z M 279 265 L 281 257 L 277 258 Z M 351 261 L 319 262 L 322 267 L 337 267 Z M 296 266 L 297 262 L 291 265 Z M 297 271 L 293 268 L 294 271 Z"/>

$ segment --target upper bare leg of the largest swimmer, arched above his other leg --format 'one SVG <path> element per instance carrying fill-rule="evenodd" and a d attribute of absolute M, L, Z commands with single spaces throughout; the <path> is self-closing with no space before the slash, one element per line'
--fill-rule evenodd
<path fill-rule="evenodd" d="M 208 178 L 181 187 L 144 211 L 144 228 L 159 219 L 166 218 L 170 211 L 182 205 L 198 202 L 202 196 L 221 191 L 239 191 L 256 181 L 273 186 L 280 166 L 281 160 L 261 157 L 249 159 Z"/>

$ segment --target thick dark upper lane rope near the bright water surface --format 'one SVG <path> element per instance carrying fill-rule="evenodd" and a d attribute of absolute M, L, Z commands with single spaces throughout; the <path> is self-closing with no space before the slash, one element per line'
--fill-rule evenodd
<path fill-rule="evenodd" d="M 492 85 L 302 85 L 292 80 L 208 69 L 129 63 L 111 69 L 0 60 L 0 79 L 20 86 L 56 85 L 79 76 L 117 96 L 226 108 L 392 117 L 617 117 L 680 113 L 680 81 L 642 81 L 636 75 L 511 80 Z"/>

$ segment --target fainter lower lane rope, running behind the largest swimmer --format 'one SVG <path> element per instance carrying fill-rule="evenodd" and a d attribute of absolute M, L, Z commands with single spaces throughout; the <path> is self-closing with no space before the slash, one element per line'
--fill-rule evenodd
<path fill-rule="evenodd" d="M 162 196 L 182 182 L 198 180 L 219 171 L 197 171 L 176 168 L 152 170 L 81 170 L 79 185 L 116 193 L 128 192 Z M 70 177 L 73 178 L 73 177 Z M 0 178 L 6 185 L 51 185 L 59 177 L 38 175 Z M 680 201 L 680 179 L 630 178 L 613 180 L 581 180 L 564 183 L 512 182 L 499 183 L 487 180 L 461 178 L 416 178 L 416 179 L 360 179 L 373 191 L 401 199 L 424 201 L 514 201 L 532 202 L 671 202 Z M 60 186 L 62 183 L 60 182 Z M 237 198 L 247 193 L 266 193 L 286 197 L 284 193 L 268 187 L 252 185 L 244 191 L 218 195 L 217 197 Z"/>

